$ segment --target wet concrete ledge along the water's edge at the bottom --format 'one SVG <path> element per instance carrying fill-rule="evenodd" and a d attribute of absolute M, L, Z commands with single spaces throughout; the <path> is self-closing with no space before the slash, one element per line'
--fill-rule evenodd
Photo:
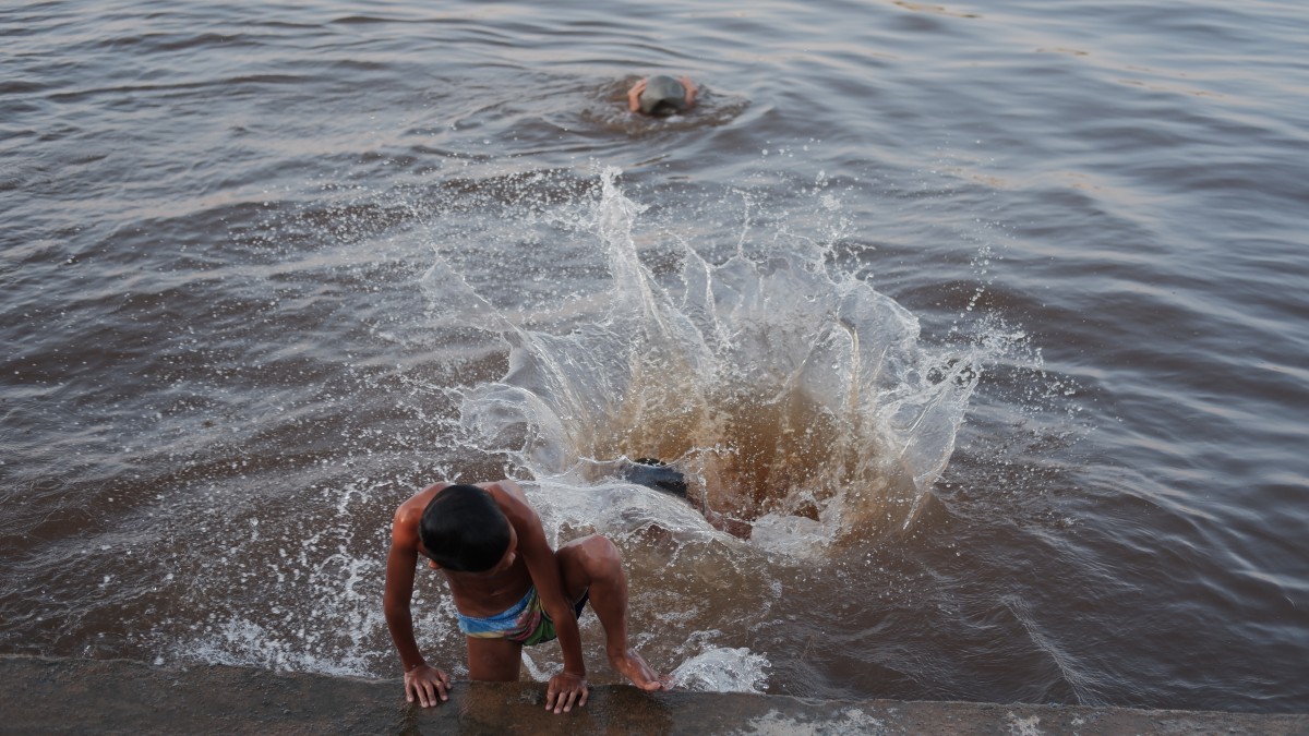
<path fill-rule="evenodd" d="M 398 680 L 0 656 L 4 733 L 1250 733 L 1309 735 L 1309 715 L 988 703 L 813 701 L 597 686 L 545 711 L 537 684 L 457 684 L 435 708 Z"/>

